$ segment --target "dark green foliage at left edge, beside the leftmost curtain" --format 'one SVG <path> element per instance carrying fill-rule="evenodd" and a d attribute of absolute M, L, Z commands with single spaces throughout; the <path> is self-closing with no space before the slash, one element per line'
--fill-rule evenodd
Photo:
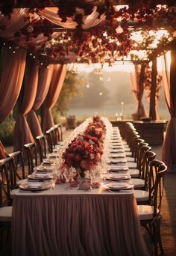
<path fill-rule="evenodd" d="M 0 124 L 0 139 L 4 146 L 10 146 L 13 144 L 14 127 L 15 121 L 12 117 L 7 118 L 2 124 Z"/>

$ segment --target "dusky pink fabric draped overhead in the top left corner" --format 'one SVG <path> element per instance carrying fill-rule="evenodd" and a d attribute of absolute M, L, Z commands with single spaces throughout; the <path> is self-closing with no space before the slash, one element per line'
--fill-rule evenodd
<path fill-rule="evenodd" d="M 8 16 L 0 14 L 0 37 L 7 40 L 14 37 L 14 34 L 28 24 L 28 9 L 13 9 L 10 19 Z"/>

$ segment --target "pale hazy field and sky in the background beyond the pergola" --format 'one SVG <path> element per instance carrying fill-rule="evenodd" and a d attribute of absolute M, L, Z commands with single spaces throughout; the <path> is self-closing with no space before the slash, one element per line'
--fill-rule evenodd
<path fill-rule="evenodd" d="M 124 118 L 131 118 L 136 112 L 136 99 L 131 88 L 131 75 L 128 72 L 106 72 L 101 75 L 92 73 L 78 73 L 84 78 L 84 87 L 80 91 L 83 97 L 73 97 L 69 104 L 67 115 L 76 115 L 84 118 L 98 112 L 108 118 L 115 118 L 116 113 L 122 112 Z M 142 97 L 145 109 L 148 111 L 148 102 L 145 93 Z M 169 119 L 169 111 L 163 96 L 163 88 L 160 89 L 160 103 L 158 111 L 161 119 Z"/>

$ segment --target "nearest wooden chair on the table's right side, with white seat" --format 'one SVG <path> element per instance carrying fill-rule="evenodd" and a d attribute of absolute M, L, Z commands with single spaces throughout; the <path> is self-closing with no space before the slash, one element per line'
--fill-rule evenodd
<path fill-rule="evenodd" d="M 142 227 L 146 228 L 154 243 L 154 255 L 158 255 L 158 245 L 163 255 L 163 246 L 160 234 L 161 203 L 163 198 L 164 175 L 166 165 L 159 160 L 152 160 L 149 173 L 149 201 L 148 205 L 138 205 L 139 219 Z"/>

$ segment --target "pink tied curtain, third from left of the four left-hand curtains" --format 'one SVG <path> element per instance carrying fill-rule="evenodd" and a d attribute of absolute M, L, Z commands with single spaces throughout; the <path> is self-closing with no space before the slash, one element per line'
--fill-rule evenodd
<path fill-rule="evenodd" d="M 34 138 L 36 138 L 38 135 L 43 134 L 40 127 L 40 122 L 36 115 L 36 111 L 37 109 L 40 109 L 40 106 L 42 106 L 45 97 L 48 94 L 49 85 L 51 84 L 52 72 L 53 65 L 49 65 L 48 68 L 44 67 L 40 70 L 36 99 L 34 101 L 34 106 L 28 113 L 28 125 Z"/>

